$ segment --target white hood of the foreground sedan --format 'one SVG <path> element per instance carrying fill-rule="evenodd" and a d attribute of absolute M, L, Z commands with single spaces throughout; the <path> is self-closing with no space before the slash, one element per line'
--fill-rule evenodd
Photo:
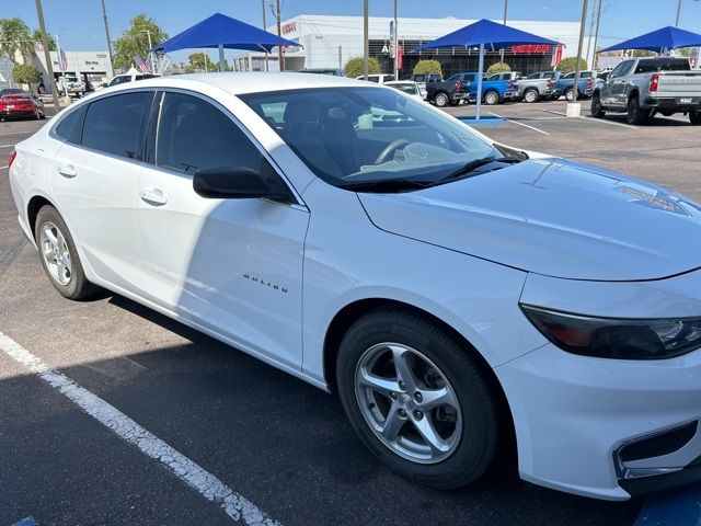
<path fill-rule="evenodd" d="M 358 195 L 382 230 L 549 276 L 640 281 L 701 266 L 700 205 L 563 159 L 417 192 Z"/>

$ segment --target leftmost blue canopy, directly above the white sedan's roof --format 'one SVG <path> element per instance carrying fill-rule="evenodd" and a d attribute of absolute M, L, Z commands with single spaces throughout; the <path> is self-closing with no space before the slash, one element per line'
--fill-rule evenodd
<path fill-rule="evenodd" d="M 296 42 L 260 30 L 253 25 L 215 13 L 208 19 L 153 47 L 153 52 L 175 52 L 202 47 L 219 48 L 219 71 L 223 71 L 223 50 L 248 49 L 271 53 L 277 46 L 299 46 Z"/>

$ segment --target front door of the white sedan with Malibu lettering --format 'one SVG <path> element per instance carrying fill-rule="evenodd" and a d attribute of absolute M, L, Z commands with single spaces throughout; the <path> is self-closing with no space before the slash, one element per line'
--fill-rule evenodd
<path fill-rule="evenodd" d="M 299 369 L 309 211 L 266 199 L 197 195 L 193 173 L 198 170 L 260 171 L 268 161 L 214 101 L 180 91 L 159 98 L 150 162 L 137 192 L 149 299 Z"/>

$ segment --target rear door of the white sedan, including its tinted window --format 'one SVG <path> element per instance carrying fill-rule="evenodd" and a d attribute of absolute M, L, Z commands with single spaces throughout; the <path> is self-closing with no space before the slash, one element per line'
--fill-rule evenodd
<path fill-rule="evenodd" d="M 131 291 L 141 251 L 135 194 L 153 95 L 122 92 L 81 106 L 73 141 L 66 140 L 51 163 L 54 195 L 87 263 L 101 278 Z"/>

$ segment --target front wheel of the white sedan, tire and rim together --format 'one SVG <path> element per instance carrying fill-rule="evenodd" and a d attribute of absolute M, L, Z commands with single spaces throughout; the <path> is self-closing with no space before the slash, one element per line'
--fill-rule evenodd
<path fill-rule="evenodd" d="M 402 477 L 456 489 L 494 461 L 505 435 L 497 397 L 464 343 L 427 318 L 365 315 L 341 342 L 336 378 L 354 430 Z"/>

